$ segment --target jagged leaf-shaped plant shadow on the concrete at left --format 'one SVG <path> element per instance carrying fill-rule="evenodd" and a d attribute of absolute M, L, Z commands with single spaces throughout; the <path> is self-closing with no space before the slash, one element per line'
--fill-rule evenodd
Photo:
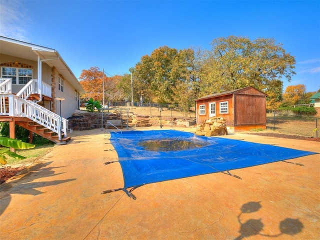
<path fill-rule="evenodd" d="M 56 176 L 61 173 L 54 173 L 54 168 L 59 167 L 47 167 L 50 162 L 45 163 L 37 163 L 28 167 L 21 172 L 19 172 L 15 177 L 16 180 L 10 182 L 4 182 L 0 185 L 0 215 L 8 206 L 11 200 L 11 194 L 30 194 L 30 195 L 39 195 L 43 192 L 35 189 L 43 186 L 50 186 L 50 185 L 57 185 L 68 181 L 73 181 L 76 178 L 64 179 L 64 180 L 53 180 L 53 181 L 34 181 L 37 178 L 49 177 L 49 176 Z M 19 177 L 19 175 L 22 175 Z"/>

